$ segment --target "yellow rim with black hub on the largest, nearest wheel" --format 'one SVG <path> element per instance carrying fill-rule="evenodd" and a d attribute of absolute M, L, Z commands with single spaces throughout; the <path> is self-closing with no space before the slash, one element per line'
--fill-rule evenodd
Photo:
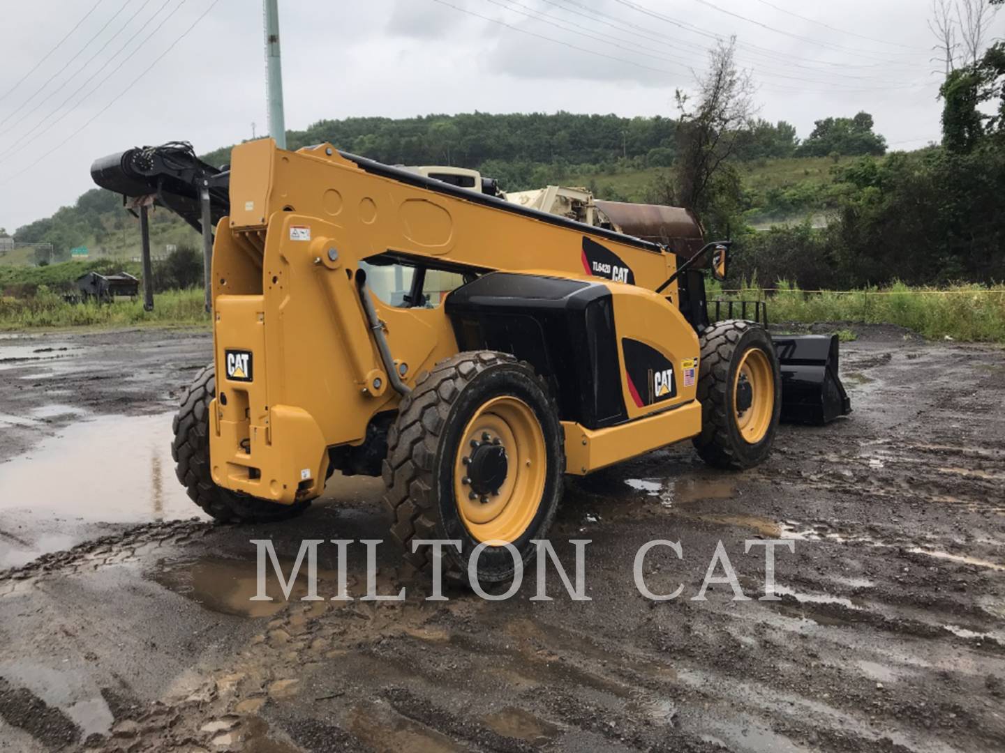
<path fill-rule="evenodd" d="M 541 505 L 546 464 L 544 432 L 522 400 L 493 398 L 475 412 L 453 467 L 457 510 L 474 539 L 513 542 L 524 534 Z"/>

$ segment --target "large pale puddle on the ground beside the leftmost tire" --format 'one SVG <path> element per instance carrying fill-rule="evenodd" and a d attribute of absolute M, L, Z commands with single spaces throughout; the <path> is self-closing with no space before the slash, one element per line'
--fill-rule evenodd
<path fill-rule="evenodd" d="M 171 439 L 170 414 L 71 424 L 0 464 L 0 511 L 117 523 L 201 515 L 175 478 Z"/>

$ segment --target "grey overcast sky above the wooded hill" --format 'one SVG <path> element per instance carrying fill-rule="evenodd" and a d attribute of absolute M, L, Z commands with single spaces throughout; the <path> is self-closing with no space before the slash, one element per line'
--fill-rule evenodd
<path fill-rule="evenodd" d="M 252 123 L 266 131 L 260 0 L 94 3 L 0 0 L 0 228 L 9 232 L 91 188 L 96 157 L 171 140 L 207 152 L 250 138 Z M 806 137 L 817 118 L 865 109 L 893 148 L 914 149 L 940 133 L 928 7 L 279 0 L 286 127 L 474 109 L 673 115 L 674 89 L 693 84 L 717 35 L 736 34 L 763 117 Z M 992 31 L 1005 33 L 1005 13 Z"/>

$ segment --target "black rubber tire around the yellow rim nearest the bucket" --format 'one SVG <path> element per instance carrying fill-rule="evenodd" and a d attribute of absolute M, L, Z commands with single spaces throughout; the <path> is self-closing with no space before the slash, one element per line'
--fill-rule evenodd
<path fill-rule="evenodd" d="M 760 349 L 771 364 L 774 405 L 770 424 L 758 442 L 747 441 L 737 423 L 734 390 L 746 353 Z M 701 459 L 715 468 L 740 470 L 763 463 L 771 454 L 782 410 L 782 376 L 771 336 L 752 321 L 730 319 L 701 333 L 697 399 L 701 434 L 692 442 Z"/>

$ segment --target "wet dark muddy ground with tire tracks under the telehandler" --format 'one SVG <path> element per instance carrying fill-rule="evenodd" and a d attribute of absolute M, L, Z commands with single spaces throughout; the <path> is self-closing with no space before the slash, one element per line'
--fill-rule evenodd
<path fill-rule="evenodd" d="M 382 538 L 379 480 L 287 523 L 191 520 L 168 412 L 207 335 L 0 339 L 0 750 L 1003 750 L 1005 353 L 891 327 L 842 353 L 854 414 L 783 427 L 761 468 L 681 446 L 570 480 L 552 538 L 570 571 L 591 539 L 590 601 L 553 572 L 553 601 L 533 572 L 425 601 L 388 544 L 405 601 L 266 602 L 249 539 L 288 567 L 304 538 Z M 774 537 L 795 551 L 762 601 L 744 542 Z M 646 558 L 670 601 L 633 583 L 654 538 L 682 549 Z M 720 540 L 752 600 L 691 600 Z M 334 596 L 334 546 L 319 567 Z"/>

